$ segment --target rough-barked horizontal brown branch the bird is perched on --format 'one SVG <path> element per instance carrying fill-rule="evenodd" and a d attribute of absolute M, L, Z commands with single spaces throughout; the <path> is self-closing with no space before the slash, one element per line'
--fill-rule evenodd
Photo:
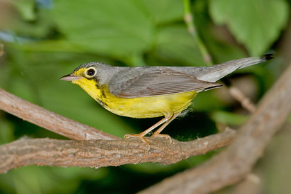
<path fill-rule="evenodd" d="M 148 138 L 150 150 L 139 139 L 121 140 L 55 140 L 20 139 L 0 146 L 0 173 L 28 165 L 119 166 L 141 162 L 174 164 L 194 155 L 202 155 L 228 145 L 236 132 L 225 130 L 220 134 L 193 141 L 181 142 Z"/>

